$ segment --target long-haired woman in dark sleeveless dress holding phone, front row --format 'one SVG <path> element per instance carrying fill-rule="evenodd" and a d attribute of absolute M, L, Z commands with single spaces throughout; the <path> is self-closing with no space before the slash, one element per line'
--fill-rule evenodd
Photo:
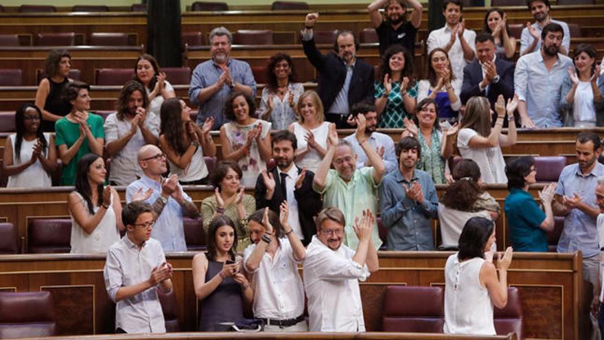
<path fill-rule="evenodd" d="M 217 216 L 207 232 L 208 250 L 193 257 L 193 286 L 201 302 L 199 330 L 229 330 L 224 322 L 243 319 L 243 304 L 251 304 L 254 292 L 241 273 L 242 261 L 236 256 L 237 229 L 231 218 Z"/>

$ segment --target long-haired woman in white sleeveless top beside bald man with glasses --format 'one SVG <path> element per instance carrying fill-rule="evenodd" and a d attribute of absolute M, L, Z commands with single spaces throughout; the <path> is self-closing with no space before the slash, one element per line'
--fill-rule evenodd
<path fill-rule="evenodd" d="M 89 153 L 78 161 L 75 190 L 67 197 L 71 215 L 71 253 L 104 253 L 119 240 L 121 202 L 111 186 L 103 188 L 105 162 Z"/>

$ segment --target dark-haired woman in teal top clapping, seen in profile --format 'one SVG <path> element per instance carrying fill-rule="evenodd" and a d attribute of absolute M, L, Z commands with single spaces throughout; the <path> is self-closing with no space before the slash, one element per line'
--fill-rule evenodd
<path fill-rule="evenodd" d="M 508 196 L 503 206 L 514 251 L 548 251 L 546 231 L 554 229 L 552 200 L 556 183 L 550 183 L 539 191 L 544 211 L 539 209 L 529 185 L 536 182 L 535 159 L 518 157 L 505 167 Z"/>

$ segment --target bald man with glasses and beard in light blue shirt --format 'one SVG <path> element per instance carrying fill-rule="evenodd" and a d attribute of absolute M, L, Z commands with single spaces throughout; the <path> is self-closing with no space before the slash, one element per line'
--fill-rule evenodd
<path fill-rule="evenodd" d="M 199 214 L 197 207 L 178 184 L 176 174 L 169 179 L 161 176 L 167 171 L 166 159 L 157 146 L 143 146 L 138 160 L 143 175 L 126 188 L 126 203 L 150 203 L 157 216 L 151 236 L 159 240 L 167 252 L 186 251 L 183 216 L 196 218 Z"/>

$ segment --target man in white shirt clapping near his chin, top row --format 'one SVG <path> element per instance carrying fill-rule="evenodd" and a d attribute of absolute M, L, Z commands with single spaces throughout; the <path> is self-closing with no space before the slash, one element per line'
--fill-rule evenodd
<path fill-rule="evenodd" d="M 460 21 L 463 15 L 463 3 L 460 0 L 443 1 L 443 16 L 445 27 L 430 32 L 428 36 L 428 54 L 432 49 L 441 47 L 448 52 L 453 75 L 463 80 L 463 68 L 474 60 L 476 32 L 467 30 L 465 23 Z"/>

